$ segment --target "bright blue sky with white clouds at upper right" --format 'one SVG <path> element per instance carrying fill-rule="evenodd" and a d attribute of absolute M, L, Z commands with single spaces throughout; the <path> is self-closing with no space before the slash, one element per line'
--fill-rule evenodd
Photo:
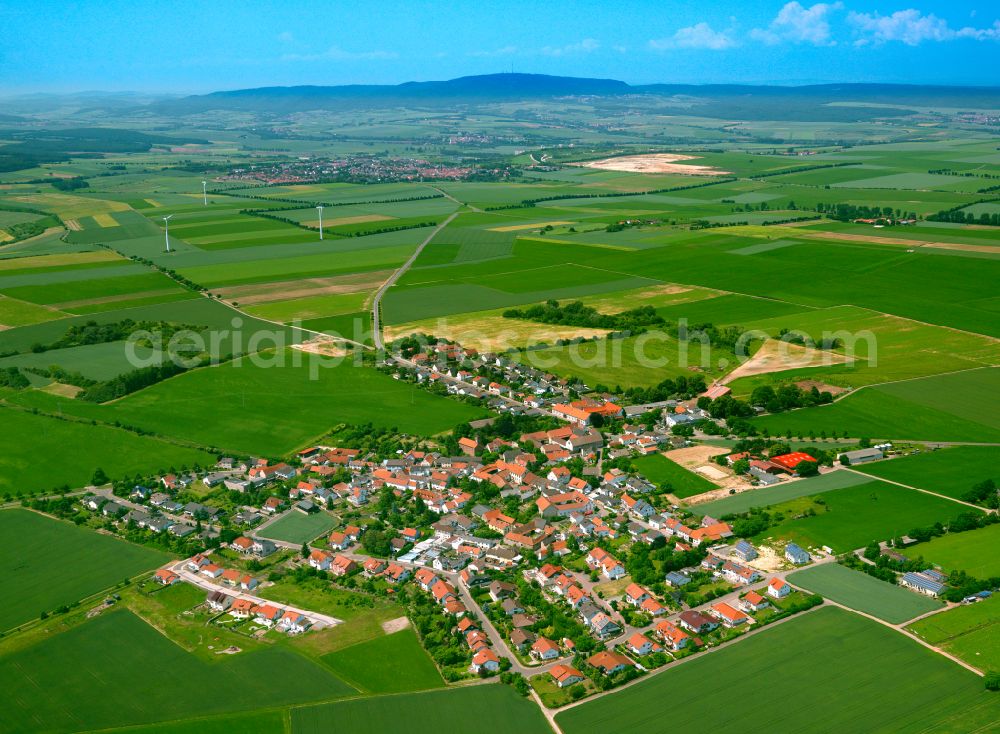
<path fill-rule="evenodd" d="M 1000 3 L 0 0 L 0 93 L 517 71 L 644 84 L 1000 85 Z"/>

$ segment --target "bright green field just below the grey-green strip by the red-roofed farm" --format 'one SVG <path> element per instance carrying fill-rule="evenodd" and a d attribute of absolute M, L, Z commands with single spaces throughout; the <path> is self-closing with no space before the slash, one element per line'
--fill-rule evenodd
<path fill-rule="evenodd" d="M 868 482 L 826 492 L 814 505 L 816 514 L 795 517 L 805 507 L 802 500 L 793 501 L 785 509 L 788 518 L 764 536 L 794 540 L 809 546 L 828 545 L 844 553 L 881 541 L 905 535 L 916 527 L 935 522 L 946 523 L 965 511 L 975 512 L 964 505 L 913 489 L 882 482 Z M 809 506 L 809 502 L 805 502 Z"/>

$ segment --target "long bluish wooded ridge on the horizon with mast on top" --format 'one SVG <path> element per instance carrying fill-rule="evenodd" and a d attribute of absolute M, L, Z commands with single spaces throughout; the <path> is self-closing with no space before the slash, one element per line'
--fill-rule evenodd
<path fill-rule="evenodd" d="M 907 109 L 865 104 L 923 107 L 1000 108 L 1000 88 L 906 84 L 814 84 L 797 87 L 740 84 L 646 84 L 545 74 L 486 74 L 447 81 L 397 85 L 295 86 L 237 89 L 164 100 L 152 108 L 164 114 L 209 110 L 289 113 L 399 105 L 456 106 L 485 102 L 601 97 L 627 101 L 630 95 L 681 97 L 693 103 L 673 114 L 730 119 L 854 120 L 907 114 Z M 862 105 L 831 103 L 859 102 Z"/>

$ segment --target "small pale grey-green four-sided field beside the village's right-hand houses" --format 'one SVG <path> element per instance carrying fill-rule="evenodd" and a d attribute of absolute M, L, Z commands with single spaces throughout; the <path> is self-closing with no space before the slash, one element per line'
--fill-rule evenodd
<path fill-rule="evenodd" d="M 839 563 L 804 568 L 788 576 L 788 581 L 893 624 L 900 624 L 943 607 L 941 602 L 930 597 L 880 581 Z"/>

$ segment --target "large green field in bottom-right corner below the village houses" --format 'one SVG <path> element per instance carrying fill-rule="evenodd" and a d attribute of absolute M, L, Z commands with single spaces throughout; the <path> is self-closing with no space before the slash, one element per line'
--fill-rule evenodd
<path fill-rule="evenodd" d="M 734 690 L 738 711 L 725 703 L 724 692 Z M 995 697 L 977 676 L 893 630 L 833 608 L 569 709 L 556 722 L 566 734 L 665 731 L 664 702 L 671 731 L 735 731 L 746 721 L 768 720 L 774 730 L 789 732 L 959 734 L 1000 724 Z"/>

